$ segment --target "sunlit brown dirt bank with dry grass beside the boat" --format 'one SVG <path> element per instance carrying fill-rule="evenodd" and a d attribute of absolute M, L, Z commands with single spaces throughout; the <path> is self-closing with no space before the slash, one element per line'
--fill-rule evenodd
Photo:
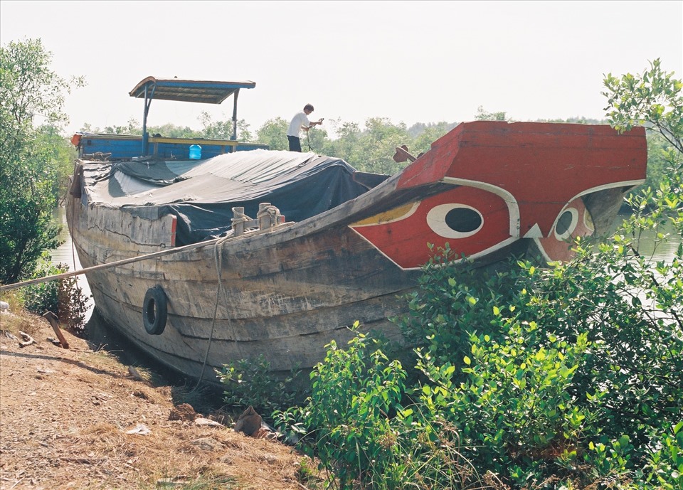
<path fill-rule="evenodd" d="M 322 488 L 292 447 L 220 412 L 169 420 L 174 387 L 63 335 L 68 349 L 41 316 L 0 315 L 0 490 Z"/>

